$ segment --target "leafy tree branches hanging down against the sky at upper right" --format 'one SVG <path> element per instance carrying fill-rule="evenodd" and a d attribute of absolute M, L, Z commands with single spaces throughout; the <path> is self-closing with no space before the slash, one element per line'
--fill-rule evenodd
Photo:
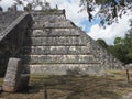
<path fill-rule="evenodd" d="M 80 0 L 80 7 L 82 10 L 87 10 L 89 21 L 94 19 L 92 12 L 96 7 L 100 7 L 97 13 L 101 20 L 100 24 L 110 25 L 125 14 L 127 10 L 132 12 L 132 0 Z"/>

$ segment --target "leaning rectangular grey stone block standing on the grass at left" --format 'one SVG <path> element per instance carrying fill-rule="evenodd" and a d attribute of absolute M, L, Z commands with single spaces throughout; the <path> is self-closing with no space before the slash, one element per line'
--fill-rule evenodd
<path fill-rule="evenodd" d="M 10 58 L 8 63 L 8 68 L 6 77 L 3 80 L 3 91 L 14 92 L 19 90 L 20 87 L 20 72 L 21 72 L 21 59 Z"/>

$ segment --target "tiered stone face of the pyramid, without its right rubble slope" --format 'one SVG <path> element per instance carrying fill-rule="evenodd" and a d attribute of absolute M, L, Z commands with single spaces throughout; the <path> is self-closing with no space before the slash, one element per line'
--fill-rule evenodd
<path fill-rule="evenodd" d="M 64 11 L 32 12 L 33 25 L 21 51 L 31 74 L 65 75 L 79 68 L 84 74 L 99 74 L 102 63 L 92 53 L 91 40 Z"/>

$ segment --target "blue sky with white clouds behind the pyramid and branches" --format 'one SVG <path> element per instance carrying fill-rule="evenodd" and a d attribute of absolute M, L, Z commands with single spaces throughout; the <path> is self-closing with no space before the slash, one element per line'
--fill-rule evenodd
<path fill-rule="evenodd" d="M 73 21 L 77 26 L 81 28 L 89 36 L 94 40 L 102 38 L 108 44 L 113 44 L 116 37 L 123 37 L 127 31 L 130 29 L 130 18 L 131 15 L 123 15 L 122 19 L 119 19 L 119 23 L 113 23 L 106 29 L 100 28 L 99 20 L 95 19 L 92 22 L 88 21 L 88 15 L 86 11 L 80 12 L 80 0 L 46 0 L 51 3 L 52 8 L 55 8 L 56 4 L 58 9 L 66 10 L 66 18 Z M 4 8 L 4 10 L 13 4 L 13 0 L 3 0 L 0 2 L 0 6 Z M 99 10 L 98 8 L 96 9 Z M 95 12 L 96 14 L 96 12 Z"/>

